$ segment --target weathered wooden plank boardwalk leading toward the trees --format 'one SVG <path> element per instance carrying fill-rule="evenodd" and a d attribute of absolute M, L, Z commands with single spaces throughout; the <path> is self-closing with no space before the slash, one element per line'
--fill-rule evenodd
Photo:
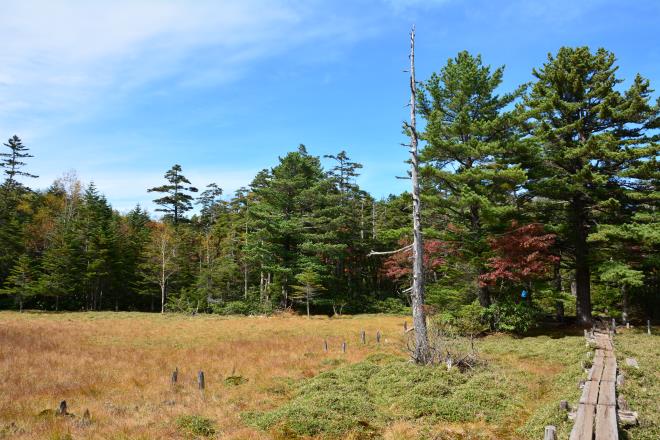
<path fill-rule="evenodd" d="M 595 333 L 596 353 L 578 404 L 570 440 L 618 440 L 616 358 L 607 333 Z"/>

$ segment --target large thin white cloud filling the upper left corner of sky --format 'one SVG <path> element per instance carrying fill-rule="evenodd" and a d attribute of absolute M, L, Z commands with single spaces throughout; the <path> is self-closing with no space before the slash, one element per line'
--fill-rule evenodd
<path fill-rule="evenodd" d="M 47 133 L 154 80 L 222 83 L 304 42 L 350 38 L 354 23 L 317 3 L 3 0 L 0 130 Z"/>

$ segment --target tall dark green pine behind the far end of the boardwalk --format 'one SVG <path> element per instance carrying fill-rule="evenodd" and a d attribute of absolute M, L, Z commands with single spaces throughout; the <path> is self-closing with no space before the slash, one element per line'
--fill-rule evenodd
<path fill-rule="evenodd" d="M 527 189 L 567 219 L 564 239 L 583 324 L 591 322 L 594 255 L 588 237 L 600 215 L 610 217 L 629 192 L 644 191 L 627 172 L 658 154 L 649 137 L 658 120 L 649 82 L 637 75 L 620 91 L 615 61 L 605 49 L 563 47 L 533 71 L 536 81 L 524 100 Z"/>

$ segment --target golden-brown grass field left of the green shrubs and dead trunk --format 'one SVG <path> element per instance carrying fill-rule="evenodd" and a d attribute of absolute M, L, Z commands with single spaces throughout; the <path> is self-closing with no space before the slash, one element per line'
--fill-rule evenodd
<path fill-rule="evenodd" d="M 355 362 L 375 350 L 399 352 L 404 318 L 164 316 L 143 313 L 0 313 L 0 426 L 11 438 L 186 438 L 173 420 L 199 414 L 227 439 L 269 438 L 240 412 L 283 399 L 283 378 L 317 374 L 328 358 Z M 361 344 L 360 331 L 368 335 Z M 323 352 L 323 339 L 329 352 Z M 341 352 L 346 340 L 347 353 Z M 179 386 L 170 384 L 179 369 Z M 206 389 L 197 389 L 203 370 Z M 227 386 L 240 375 L 248 382 Z M 66 400 L 93 423 L 38 416 Z M 13 423 L 10 428 L 7 426 Z"/>

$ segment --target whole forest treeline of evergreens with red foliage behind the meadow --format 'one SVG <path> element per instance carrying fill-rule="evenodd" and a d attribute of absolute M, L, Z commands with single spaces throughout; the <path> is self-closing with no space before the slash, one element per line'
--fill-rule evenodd
<path fill-rule="evenodd" d="M 606 50 L 562 48 L 530 84 L 501 94 L 504 69 L 461 52 L 419 84 L 430 306 L 480 307 L 501 328 L 541 312 L 657 317 L 660 104 L 648 80 L 623 88 L 616 70 Z M 216 184 L 199 191 L 175 165 L 149 189 L 156 221 L 139 206 L 113 211 L 71 176 L 29 189 L 17 180 L 31 177 L 27 148 L 17 137 L 5 145 L 7 307 L 407 306 L 410 196 L 375 200 L 345 151 L 324 169 L 301 145 L 230 197 Z"/>

